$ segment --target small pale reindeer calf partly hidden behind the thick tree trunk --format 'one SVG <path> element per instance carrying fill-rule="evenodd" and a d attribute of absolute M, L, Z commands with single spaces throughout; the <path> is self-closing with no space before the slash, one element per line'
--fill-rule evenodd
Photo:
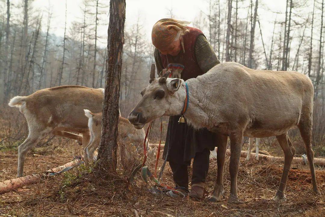
<path fill-rule="evenodd" d="M 87 155 L 96 160 L 94 156 L 95 150 L 98 148 L 101 137 L 101 120 L 102 113 L 94 114 L 91 111 L 84 109 L 86 117 L 88 117 L 88 127 L 90 132 L 90 141 L 85 147 Z M 135 127 L 130 124 L 129 120 L 119 116 L 118 125 L 118 142 L 120 148 L 123 148 L 127 144 L 133 144 L 139 154 L 143 152 L 143 141 L 145 138 L 145 132 L 143 129 L 135 129 Z M 152 158 L 154 156 L 156 148 L 149 148 L 148 157 Z M 124 154 L 124 153 L 123 153 Z M 130 159 L 130 154 L 126 153 L 127 159 Z M 122 157 L 122 156 L 121 156 Z"/>

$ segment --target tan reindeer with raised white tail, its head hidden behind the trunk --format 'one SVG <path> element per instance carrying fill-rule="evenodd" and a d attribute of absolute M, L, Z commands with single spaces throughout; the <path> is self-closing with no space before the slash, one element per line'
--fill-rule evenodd
<path fill-rule="evenodd" d="M 19 107 L 28 124 L 28 137 L 18 147 L 17 177 L 23 176 L 26 153 L 47 135 L 59 135 L 89 143 L 88 119 L 84 108 L 94 112 L 102 110 L 104 89 L 82 86 L 59 86 L 36 91 L 29 96 L 16 96 L 10 107 Z M 64 130 L 64 131 L 63 131 Z M 79 136 L 72 131 L 82 133 Z"/>

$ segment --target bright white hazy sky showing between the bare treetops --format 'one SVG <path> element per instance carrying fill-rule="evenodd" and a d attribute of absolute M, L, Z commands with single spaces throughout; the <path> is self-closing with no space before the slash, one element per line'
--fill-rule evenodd
<path fill-rule="evenodd" d="M 22 0 L 12 0 L 11 2 L 18 4 Z M 82 20 L 82 0 L 67 0 L 68 14 L 68 28 L 72 21 Z M 100 2 L 106 2 L 109 5 L 109 0 L 100 0 Z M 221 8 L 224 10 L 226 5 L 226 0 L 220 0 Z M 235 1 L 233 1 L 233 6 L 235 6 Z M 255 2 L 255 1 L 253 1 Z M 64 33 L 64 21 L 65 21 L 65 0 L 35 0 L 32 3 L 35 11 L 43 11 L 44 17 L 47 19 L 47 8 L 50 6 L 53 11 L 53 19 L 51 25 L 51 32 L 63 36 Z M 193 21 L 196 16 L 199 15 L 200 11 L 208 11 L 208 1 L 207 0 L 126 0 L 126 27 L 134 24 L 137 20 L 138 15 L 140 15 L 140 23 L 143 25 L 143 31 L 148 39 L 151 41 L 151 28 L 153 24 L 161 19 L 167 17 L 168 10 L 173 9 L 173 14 L 176 18 L 182 20 Z M 108 24 L 109 17 L 107 8 L 106 16 L 102 22 Z M 263 37 L 268 40 L 273 32 L 273 23 L 275 20 L 275 14 L 272 11 L 284 12 L 285 1 L 284 0 L 260 0 L 258 14 L 261 20 Z M 233 8 L 234 12 L 234 8 Z M 242 9 L 239 16 L 246 17 L 247 9 Z M 282 15 L 278 15 L 278 20 L 283 19 Z M 45 31 L 45 23 L 43 22 L 43 31 Z M 99 35 L 107 37 L 107 25 L 99 27 Z M 257 26 L 256 26 L 257 27 Z M 255 30 L 258 31 L 258 27 Z M 206 33 L 208 34 L 208 33 Z M 107 38 L 101 40 L 103 45 L 106 43 Z"/>

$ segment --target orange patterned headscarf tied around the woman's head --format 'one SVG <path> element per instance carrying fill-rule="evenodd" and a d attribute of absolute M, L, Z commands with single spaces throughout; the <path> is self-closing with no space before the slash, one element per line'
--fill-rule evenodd
<path fill-rule="evenodd" d="M 177 36 L 185 35 L 189 32 L 186 28 L 190 22 L 164 18 L 158 20 L 152 27 L 151 40 L 157 48 L 168 47 Z"/>

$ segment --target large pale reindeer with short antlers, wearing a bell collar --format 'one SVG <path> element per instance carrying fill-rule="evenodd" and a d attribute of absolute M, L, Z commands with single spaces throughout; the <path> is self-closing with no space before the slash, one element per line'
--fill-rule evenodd
<path fill-rule="evenodd" d="M 230 196 L 238 201 L 237 173 L 243 136 L 276 136 L 284 152 L 284 167 L 274 201 L 285 199 L 284 191 L 295 149 L 287 131 L 297 126 L 305 143 L 313 191 L 319 193 L 314 152 L 311 145 L 313 95 L 310 79 L 297 72 L 249 69 L 239 63 L 224 62 L 186 82 L 169 78 L 170 72 L 155 79 L 152 64 L 148 87 L 128 119 L 136 129 L 162 115 L 183 115 L 195 129 L 208 128 L 218 134 L 218 172 L 210 201 L 224 195 L 223 168 L 230 137 Z M 186 106 L 185 102 L 188 102 Z"/>

